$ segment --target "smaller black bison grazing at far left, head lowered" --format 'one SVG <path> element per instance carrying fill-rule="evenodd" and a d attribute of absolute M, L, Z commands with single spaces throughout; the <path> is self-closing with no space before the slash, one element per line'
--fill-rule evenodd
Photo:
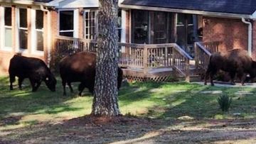
<path fill-rule="evenodd" d="M 31 82 L 32 92 L 36 92 L 41 82 L 46 82 L 50 91 L 55 92 L 56 79 L 43 60 L 34 57 L 14 55 L 10 60 L 9 78 L 10 90 L 13 90 L 13 82 L 18 77 L 18 88 L 21 89 L 23 79 Z"/>

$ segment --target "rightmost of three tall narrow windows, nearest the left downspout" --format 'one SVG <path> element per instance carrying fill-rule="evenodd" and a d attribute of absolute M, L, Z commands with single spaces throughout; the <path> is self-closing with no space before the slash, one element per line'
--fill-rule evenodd
<path fill-rule="evenodd" d="M 36 10 L 36 50 L 43 51 L 43 11 Z"/>

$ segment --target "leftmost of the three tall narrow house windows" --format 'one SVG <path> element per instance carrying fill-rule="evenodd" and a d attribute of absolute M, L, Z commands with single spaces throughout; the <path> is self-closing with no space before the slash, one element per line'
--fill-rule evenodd
<path fill-rule="evenodd" d="M 11 34 L 11 7 L 4 8 L 4 47 L 11 48 L 12 34 Z"/>

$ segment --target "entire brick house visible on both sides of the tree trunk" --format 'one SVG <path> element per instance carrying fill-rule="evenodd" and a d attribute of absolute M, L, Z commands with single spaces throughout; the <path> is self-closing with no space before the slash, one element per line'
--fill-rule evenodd
<path fill-rule="evenodd" d="M 9 59 L 15 53 L 40 57 L 49 63 L 56 40 L 69 40 L 62 45 L 76 48 L 78 41 L 95 39 L 97 8 L 95 0 L 0 0 L 1 69 L 8 69 Z M 169 44 L 183 49 L 184 52 L 178 50 L 182 55 L 195 58 L 195 42 L 218 42 L 215 51 L 242 48 L 256 59 L 255 11 L 256 3 L 246 0 L 122 0 L 118 13 L 119 42 L 124 43 L 122 48 L 131 43 L 137 44 L 137 48 Z M 151 50 L 148 56 L 156 52 L 159 60 L 165 60 L 163 65 L 169 67 L 168 63 L 174 60 L 168 59 L 172 50 L 163 51 L 164 57 L 160 51 L 163 50 Z M 134 57 L 142 60 L 138 58 L 141 55 Z M 134 62 L 144 67 L 146 61 Z"/>

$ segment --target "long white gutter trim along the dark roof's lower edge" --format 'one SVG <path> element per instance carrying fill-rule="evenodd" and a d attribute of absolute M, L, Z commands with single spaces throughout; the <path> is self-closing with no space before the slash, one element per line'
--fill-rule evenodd
<path fill-rule="evenodd" d="M 148 11 L 166 11 L 174 13 L 189 13 L 189 14 L 198 14 L 204 16 L 214 16 L 221 18 L 253 18 L 252 15 L 247 14 L 235 14 L 235 13 L 219 13 L 219 12 L 210 12 L 210 11 L 197 11 L 197 10 L 188 10 L 188 9 L 171 9 L 171 8 L 161 8 L 161 7 L 151 7 L 151 6 L 134 6 L 119 4 L 119 7 L 122 9 L 141 9 Z M 256 13 L 255 13 L 256 16 Z"/>

